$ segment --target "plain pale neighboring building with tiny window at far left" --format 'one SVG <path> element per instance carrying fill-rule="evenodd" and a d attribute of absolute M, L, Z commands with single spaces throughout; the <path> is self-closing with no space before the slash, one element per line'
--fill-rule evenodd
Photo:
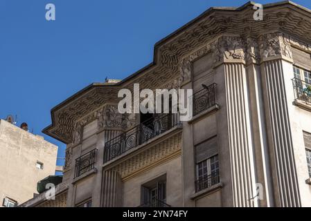
<path fill-rule="evenodd" d="M 0 119 L 1 206 L 16 206 L 37 193 L 37 182 L 55 174 L 57 146 Z"/>

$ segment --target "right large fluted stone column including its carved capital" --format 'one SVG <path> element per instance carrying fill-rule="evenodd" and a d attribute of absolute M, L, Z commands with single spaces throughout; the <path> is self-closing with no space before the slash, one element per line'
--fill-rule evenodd
<path fill-rule="evenodd" d="M 301 206 L 283 70 L 292 63 L 290 44 L 278 32 L 259 40 L 275 203 Z"/>

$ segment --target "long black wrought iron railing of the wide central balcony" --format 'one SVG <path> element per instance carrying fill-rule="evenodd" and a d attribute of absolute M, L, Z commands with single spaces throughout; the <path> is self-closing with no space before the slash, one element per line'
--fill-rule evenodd
<path fill-rule="evenodd" d="M 123 155 L 148 140 L 180 124 L 178 114 L 159 115 L 149 119 L 105 143 L 104 163 Z"/>

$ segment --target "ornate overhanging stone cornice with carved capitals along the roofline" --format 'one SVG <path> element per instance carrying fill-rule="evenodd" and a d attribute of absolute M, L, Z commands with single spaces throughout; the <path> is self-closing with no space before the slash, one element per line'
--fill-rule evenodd
<path fill-rule="evenodd" d="M 254 20 L 251 3 L 236 10 L 211 9 L 206 11 L 157 44 L 154 48 L 152 65 L 117 84 L 91 86 L 83 90 L 82 94 L 53 109 L 53 125 L 46 128 L 44 133 L 68 144 L 73 140 L 73 127 L 77 119 L 107 102 L 118 102 L 117 93 L 120 88 L 132 90 L 134 82 L 139 83 L 141 88 L 163 88 L 163 85 L 177 79 L 180 85 L 181 81 L 186 81 L 189 77 L 188 61 L 183 63 L 185 61 L 182 59 L 196 51 L 197 48 L 202 48 L 211 42 L 215 43 L 213 45 L 214 59 L 220 62 L 222 60 L 240 62 L 245 59 L 258 62 L 257 42 L 254 39 L 258 39 L 263 33 L 276 30 L 311 42 L 310 11 L 303 10 L 290 2 L 267 5 L 264 9 L 263 21 Z M 231 37 L 224 35 L 231 35 Z M 232 35 L 236 35 L 236 39 Z M 289 51 L 287 51 L 288 43 L 295 46 L 296 44 L 303 45 L 292 39 L 289 42 L 285 41 L 278 36 L 269 40 L 276 41 L 281 47 L 274 48 L 271 42 L 264 40 L 265 38 L 261 39 L 260 42 L 263 44 L 259 46 L 262 57 L 272 57 L 273 53 L 281 53 L 285 59 L 290 58 Z M 244 48 L 245 45 L 247 48 Z M 304 44 L 303 47 L 305 50 L 310 50 L 310 44 Z"/>

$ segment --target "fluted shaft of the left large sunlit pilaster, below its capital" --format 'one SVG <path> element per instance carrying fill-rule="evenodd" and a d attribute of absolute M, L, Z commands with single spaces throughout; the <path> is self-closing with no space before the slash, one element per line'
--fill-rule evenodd
<path fill-rule="evenodd" d="M 254 155 L 243 64 L 224 64 L 233 206 L 257 206 Z"/>

